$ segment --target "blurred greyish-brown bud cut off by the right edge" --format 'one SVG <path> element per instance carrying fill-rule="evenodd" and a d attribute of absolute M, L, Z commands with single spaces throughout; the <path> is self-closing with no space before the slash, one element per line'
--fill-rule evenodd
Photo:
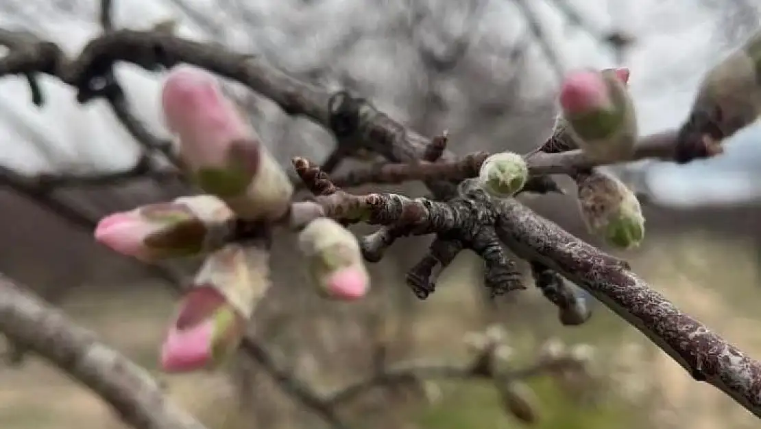
<path fill-rule="evenodd" d="M 761 31 L 710 69 L 698 86 L 680 139 L 715 143 L 761 114 Z M 721 147 L 714 147 L 721 152 Z M 677 154 L 678 156 L 679 154 Z M 686 159 L 689 160 L 689 159 Z"/>

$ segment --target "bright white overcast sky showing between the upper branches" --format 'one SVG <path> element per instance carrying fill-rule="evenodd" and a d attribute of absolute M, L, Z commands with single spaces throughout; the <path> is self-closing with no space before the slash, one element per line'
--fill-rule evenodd
<path fill-rule="evenodd" d="M 259 25 L 255 28 L 231 25 L 218 37 L 240 49 L 277 51 L 280 65 L 285 68 L 320 61 L 320 56 L 325 56 L 354 26 L 380 25 L 382 21 L 374 18 L 377 14 L 371 8 L 384 7 L 387 13 L 403 13 L 403 9 L 394 9 L 391 5 L 398 2 L 228 0 L 236 1 L 255 5 L 252 9 L 260 18 Z M 71 53 L 76 53 L 98 32 L 93 19 L 94 2 L 13 2 L 3 7 L 7 10 L 0 14 L 0 25 L 46 34 Z M 221 14 L 219 2 L 212 0 L 116 0 L 115 3 L 119 25 L 148 27 L 162 19 L 179 18 L 180 34 L 188 37 L 204 39 L 213 35 L 193 26 L 193 20 L 183 14 L 178 4 L 193 5 L 202 18 L 212 23 L 227 19 Z M 616 6 L 612 8 L 609 4 Z M 62 5 L 63 11 L 54 11 L 54 5 Z M 610 53 L 600 51 L 591 37 L 563 24 L 552 1 L 530 0 L 529 5 L 546 20 L 546 28 L 552 30 L 553 46 L 562 53 L 569 69 L 613 65 Z M 721 15 L 697 8 L 695 0 L 576 0 L 575 5 L 600 29 L 623 27 L 638 37 L 638 45 L 629 54 L 626 65 L 632 69 L 631 91 L 642 133 L 680 123 L 693 100 L 700 76 L 715 62 L 717 55 L 729 47 L 720 42 Z M 515 17 L 514 9 L 507 2 L 492 0 L 479 30 L 504 34 L 505 40 L 514 40 L 523 28 L 523 23 L 517 23 Z M 385 66 L 389 66 L 388 62 Z M 382 67 L 368 66 L 368 69 L 377 72 Z M 158 76 L 127 66 L 119 68 L 119 75 L 135 110 L 151 130 L 166 135 L 158 114 Z M 43 87 L 48 102 L 38 109 L 30 103 L 24 79 L 0 81 L 3 133 L 0 162 L 30 173 L 51 169 L 113 169 L 131 164 L 138 153 L 137 146 L 113 120 L 107 107 L 97 101 L 79 106 L 71 89 L 52 78 L 43 78 Z M 648 177 L 655 197 L 673 203 L 690 203 L 700 199 L 710 202 L 761 195 L 761 186 L 756 184 L 761 183 L 758 180 L 761 174 L 756 172 L 761 170 L 756 168 L 761 164 L 761 151 L 743 149 L 759 146 L 756 143 L 759 139 L 761 127 L 756 127 L 730 142 L 726 155 L 721 158 L 687 167 L 654 168 Z"/>

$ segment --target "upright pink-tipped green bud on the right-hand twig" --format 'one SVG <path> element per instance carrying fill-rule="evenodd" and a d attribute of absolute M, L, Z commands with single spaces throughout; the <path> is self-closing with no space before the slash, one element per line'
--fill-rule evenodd
<path fill-rule="evenodd" d="M 562 83 L 565 131 L 590 158 L 622 161 L 634 152 L 637 118 L 628 81 L 629 69 L 605 69 L 572 72 Z"/>

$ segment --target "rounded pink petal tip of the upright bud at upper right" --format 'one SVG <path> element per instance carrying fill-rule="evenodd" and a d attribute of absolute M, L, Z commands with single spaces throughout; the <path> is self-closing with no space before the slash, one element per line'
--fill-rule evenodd
<path fill-rule="evenodd" d="M 560 106 L 566 114 L 584 114 L 608 103 L 607 86 L 599 72 L 574 72 L 560 90 Z"/>

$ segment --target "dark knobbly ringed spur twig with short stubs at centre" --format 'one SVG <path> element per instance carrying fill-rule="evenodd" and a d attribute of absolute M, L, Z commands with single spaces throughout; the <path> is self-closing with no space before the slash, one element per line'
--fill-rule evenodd
<path fill-rule="evenodd" d="M 299 229 L 320 216 L 329 216 L 344 224 L 365 222 L 382 225 L 380 229 L 361 239 L 361 251 L 366 261 L 377 262 L 396 239 L 406 235 L 434 235 L 430 250 L 407 274 L 407 284 L 420 299 L 435 291 L 438 276 L 454 258 L 465 249 L 474 251 L 485 262 L 484 284 L 492 298 L 512 290 L 525 289 L 521 274 L 514 261 L 505 253 L 495 231 L 495 206 L 491 198 L 470 183 L 463 184 L 460 197 L 439 202 L 427 198 L 410 199 L 396 194 L 348 194 L 336 187 L 325 171 L 311 165 L 304 158 L 294 158 L 296 171 L 307 188 L 316 196 L 314 201 L 293 203 L 290 215 L 281 223 Z M 294 219 L 298 218 L 298 222 Z M 250 228 L 238 222 L 231 229 L 235 238 L 238 231 Z M 626 261 L 619 261 L 629 267 Z M 563 325 L 581 325 L 591 317 L 586 301 L 561 277 L 540 264 L 534 264 L 537 287 L 559 309 Z"/>

